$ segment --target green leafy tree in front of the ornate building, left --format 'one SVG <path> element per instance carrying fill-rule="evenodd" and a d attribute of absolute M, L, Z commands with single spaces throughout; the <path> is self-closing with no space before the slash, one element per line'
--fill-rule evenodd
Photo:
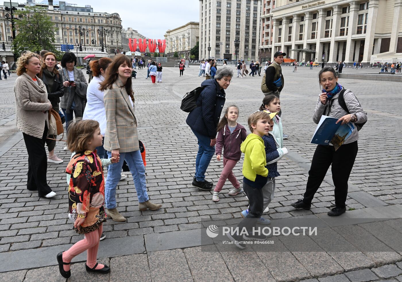
<path fill-rule="evenodd" d="M 48 50 L 57 57 L 62 55 L 52 44 L 55 42 L 56 28 L 46 11 L 38 6 L 25 6 L 24 10 L 15 11 L 18 20 L 15 20 L 14 30 L 17 35 L 12 43 L 16 54 L 19 55 L 24 50 L 38 54 L 41 50 Z"/>

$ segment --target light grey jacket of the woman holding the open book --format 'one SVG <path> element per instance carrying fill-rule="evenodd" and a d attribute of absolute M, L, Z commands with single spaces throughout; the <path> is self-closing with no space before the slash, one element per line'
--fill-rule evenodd
<path fill-rule="evenodd" d="M 320 97 L 318 97 L 316 109 L 314 110 L 314 113 L 313 113 L 313 121 L 316 124 L 318 124 L 322 115 L 328 115 L 330 117 L 341 118 L 344 115 L 348 114 L 339 105 L 338 96 L 339 96 L 339 93 L 336 93 L 334 95 L 334 97 L 332 97 L 332 99 L 330 101 L 330 103 L 332 103 L 332 105 L 331 105 L 330 109 L 327 108 L 326 113 L 324 113 L 325 105 L 322 105 L 322 103 L 320 101 Z M 346 90 L 345 93 L 343 94 L 343 98 L 345 99 L 345 103 L 346 103 L 347 108 L 349 109 L 350 113 L 354 113 L 357 116 L 356 122 L 358 124 L 367 121 L 367 114 L 363 111 L 363 108 L 360 106 L 359 101 L 357 101 L 357 98 L 352 93 L 352 91 Z M 327 101 L 327 103 L 328 103 L 328 101 Z M 357 129 L 356 129 L 352 132 L 351 136 L 349 136 L 349 138 L 345 141 L 344 144 L 349 144 L 349 143 L 355 142 L 358 139 L 359 139 L 359 133 L 357 132 Z"/>

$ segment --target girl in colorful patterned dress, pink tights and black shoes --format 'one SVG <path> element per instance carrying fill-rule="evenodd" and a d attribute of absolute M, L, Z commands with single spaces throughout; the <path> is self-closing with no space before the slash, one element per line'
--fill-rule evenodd
<path fill-rule="evenodd" d="M 87 251 L 86 271 L 108 273 L 110 268 L 96 262 L 99 238 L 106 221 L 105 209 L 105 179 L 103 177 L 102 161 L 95 148 L 102 146 L 102 134 L 98 121 L 91 119 L 75 121 L 70 124 L 67 136 L 68 149 L 76 154 L 71 158 L 66 173 L 71 175 L 68 187 L 68 206 L 72 218 L 75 219 L 74 229 L 79 234 L 85 234 L 83 240 L 75 243 L 68 251 L 57 255 L 60 274 L 64 278 L 71 276 L 70 262 L 80 253 Z M 117 163 L 117 157 L 103 163 Z"/>

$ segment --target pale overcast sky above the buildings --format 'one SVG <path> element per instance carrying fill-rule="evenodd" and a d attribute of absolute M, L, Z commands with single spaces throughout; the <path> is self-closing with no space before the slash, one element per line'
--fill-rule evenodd
<path fill-rule="evenodd" d="M 91 5 L 94 12 L 118 13 L 123 28 L 132 27 L 151 39 L 164 39 L 168 29 L 199 21 L 199 0 L 65 0 Z M 22 3 L 25 1 L 18 0 Z M 37 3 L 41 0 L 36 0 Z"/>

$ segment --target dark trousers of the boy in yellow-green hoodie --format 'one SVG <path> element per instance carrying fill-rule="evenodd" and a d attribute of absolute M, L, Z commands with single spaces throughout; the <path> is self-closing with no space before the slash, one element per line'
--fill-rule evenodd
<path fill-rule="evenodd" d="M 264 211 L 264 196 L 263 189 L 254 188 L 243 181 L 243 190 L 248 197 L 250 206 L 248 207 L 248 214 L 239 223 L 239 229 L 242 231 L 246 227 L 248 234 L 252 234 L 252 228 L 256 226 L 258 218 L 263 215 Z"/>

